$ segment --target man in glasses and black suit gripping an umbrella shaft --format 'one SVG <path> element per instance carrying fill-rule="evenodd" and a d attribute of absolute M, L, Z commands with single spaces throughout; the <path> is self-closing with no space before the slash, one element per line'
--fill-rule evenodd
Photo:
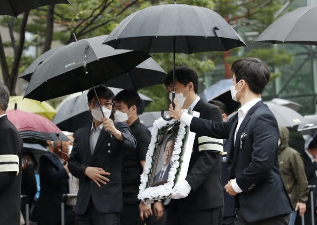
<path fill-rule="evenodd" d="M 93 121 L 74 133 L 69 159 L 71 174 L 79 178 L 75 223 L 77 225 L 119 225 L 122 212 L 121 165 L 125 149 L 135 148 L 126 123 L 113 122 L 114 94 L 106 86 L 87 94 Z"/>

